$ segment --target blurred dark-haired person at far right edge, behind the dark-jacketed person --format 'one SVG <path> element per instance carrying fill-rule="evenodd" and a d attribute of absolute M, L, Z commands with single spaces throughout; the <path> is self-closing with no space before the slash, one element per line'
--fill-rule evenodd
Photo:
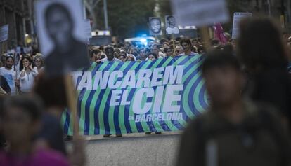
<path fill-rule="evenodd" d="M 254 101 L 276 106 L 283 120 L 287 118 L 291 125 L 288 60 L 280 31 L 270 18 L 247 18 L 240 22 L 238 57 L 249 77 L 248 95 Z"/>

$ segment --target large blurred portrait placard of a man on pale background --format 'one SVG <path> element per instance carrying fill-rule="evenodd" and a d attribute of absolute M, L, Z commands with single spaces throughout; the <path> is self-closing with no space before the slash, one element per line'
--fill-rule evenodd
<path fill-rule="evenodd" d="M 89 65 L 80 2 L 40 1 L 36 9 L 39 41 L 48 76 L 67 74 Z"/>

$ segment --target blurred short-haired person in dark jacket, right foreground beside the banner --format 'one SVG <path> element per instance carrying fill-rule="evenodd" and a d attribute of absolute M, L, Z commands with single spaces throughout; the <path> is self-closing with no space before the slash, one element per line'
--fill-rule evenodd
<path fill-rule="evenodd" d="M 209 53 L 202 76 L 208 111 L 188 124 L 176 165 L 290 165 L 290 144 L 272 107 L 244 99 L 244 74 L 235 56 Z"/>

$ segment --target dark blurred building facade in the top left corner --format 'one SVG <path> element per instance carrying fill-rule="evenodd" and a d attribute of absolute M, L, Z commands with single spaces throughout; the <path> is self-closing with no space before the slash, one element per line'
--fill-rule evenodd
<path fill-rule="evenodd" d="M 8 46 L 25 43 L 25 36 L 34 35 L 34 0 L 0 0 L 0 27 L 8 24 L 8 41 L 1 43 L 2 50 Z"/>

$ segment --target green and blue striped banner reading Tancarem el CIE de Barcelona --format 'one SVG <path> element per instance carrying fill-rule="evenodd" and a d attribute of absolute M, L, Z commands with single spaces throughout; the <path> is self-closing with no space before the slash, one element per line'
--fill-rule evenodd
<path fill-rule="evenodd" d="M 72 74 L 84 135 L 183 130 L 208 106 L 201 55 L 103 62 Z M 72 116 L 62 116 L 72 135 Z"/>

